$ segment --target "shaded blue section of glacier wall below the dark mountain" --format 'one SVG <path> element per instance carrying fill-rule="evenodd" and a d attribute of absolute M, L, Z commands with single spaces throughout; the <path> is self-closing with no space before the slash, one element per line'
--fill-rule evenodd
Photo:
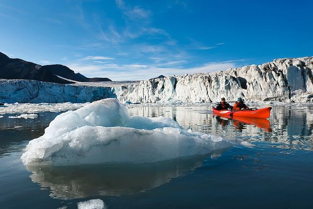
<path fill-rule="evenodd" d="M 116 97 L 109 87 L 0 79 L 0 101 L 3 103 L 85 103 L 109 97 Z"/>

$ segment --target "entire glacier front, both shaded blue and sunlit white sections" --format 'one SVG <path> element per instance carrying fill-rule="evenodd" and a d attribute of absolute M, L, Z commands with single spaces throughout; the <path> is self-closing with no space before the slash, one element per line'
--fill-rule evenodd
<path fill-rule="evenodd" d="M 224 70 L 224 69 L 221 69 Z M 275 59 L 262 65 L 159 77 L 129 82 L 88 82 L 70 85 L 33 80 L 0 80 L 0 102 L 92 102 L 117 98 L 128 103 L 205 103 L 313 101 L 313 57 Z"/>

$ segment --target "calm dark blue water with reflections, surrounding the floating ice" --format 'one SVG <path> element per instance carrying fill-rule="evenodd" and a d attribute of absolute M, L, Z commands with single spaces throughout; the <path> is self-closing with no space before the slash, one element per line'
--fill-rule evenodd
<path fill-rule="evenodd" d="M 193 131 L 232 140 L 209 156 L 147 165 L 25 167 L 28 141 L 58 113 L 0 118 L 0 208 L 77 208 L 102 199 L 113 208 L 313 208 L 313 107 L 273 107 L 269 120 L 213 116 L 210 107 L 129 107 Z M 255 146 L 241 145 L 248 141 Z"/>

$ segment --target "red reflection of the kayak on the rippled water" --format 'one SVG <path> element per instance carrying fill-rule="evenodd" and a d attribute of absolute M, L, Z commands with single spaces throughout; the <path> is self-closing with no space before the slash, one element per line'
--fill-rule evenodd
<path fill-rule="evenodd" d="M 267 132 L 271 132 L 270 122 L 268 119 L 264 118 L 254 118 L 254 117 L 240 117 L 240 116 L 216 116 L 217 121 L 222 126 L 227 126 L 230 121 L 236 130 L 242 131 L 245 128 L 245 124 L 254 125 L 258 128 L 264 129 Z"/>

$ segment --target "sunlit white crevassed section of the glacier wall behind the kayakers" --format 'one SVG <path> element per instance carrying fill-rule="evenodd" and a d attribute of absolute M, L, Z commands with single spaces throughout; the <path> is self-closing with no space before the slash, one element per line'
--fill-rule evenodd
<path fill-rule="evenodd" d="M 131 102 L 312 101 L 313 57 L 275 59 L 213 73 L 155 78 L 115 87 L 117 98 Z"/>

